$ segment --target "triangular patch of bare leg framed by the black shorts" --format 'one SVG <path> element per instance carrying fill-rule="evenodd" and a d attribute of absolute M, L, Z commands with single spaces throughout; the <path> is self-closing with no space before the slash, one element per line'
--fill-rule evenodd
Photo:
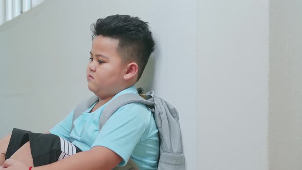
<path fill-rule="evenodd" d="M 19 148 L 19 150 L 11 156 L 11 158 L 21 161 L 21 162 L 27 164 L 28 166 L 32 166 L 32 167 L 34 166 L 29 142 L 27 142 L 23 146 L 21 146 Z"/>

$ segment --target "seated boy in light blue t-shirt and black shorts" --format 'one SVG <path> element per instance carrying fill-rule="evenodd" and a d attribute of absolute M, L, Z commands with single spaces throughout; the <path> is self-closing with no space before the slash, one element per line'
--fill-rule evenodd
<path fill-rule="evenodd" d="M 134 84 L 154 51 L 152 33 L 147 23 L 128 15 L 98 19 L 92 31 L 87 81 L 98 102 L 74 122 L 72 111 L 50 134 L 14 129 L 11 137 L 0 143 L 1 152 L 11 158 L 0 169 L 112 169 L 125 165 L 130 157 L 139 169 L 157 169 L 158 130 L 144 104 L 121 107 L 98 132 L 99 117 L 107 103 L 121 94 L 137 93 Z"/>

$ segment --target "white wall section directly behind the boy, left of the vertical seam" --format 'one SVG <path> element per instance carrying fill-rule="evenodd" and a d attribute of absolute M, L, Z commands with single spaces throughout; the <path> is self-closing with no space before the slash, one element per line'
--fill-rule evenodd
<path fill-rule="evenodd" d="M 111 14 L 149 22 L 157 49 L 147 89 L 180 112 L 187 169 L 197 169 L 196 1 L 45 1 L 0 27 L 0 136 L 49 130 L 91 93 L 90 25 Z M 148 79 L 148 80 L 147 80 Z"/>

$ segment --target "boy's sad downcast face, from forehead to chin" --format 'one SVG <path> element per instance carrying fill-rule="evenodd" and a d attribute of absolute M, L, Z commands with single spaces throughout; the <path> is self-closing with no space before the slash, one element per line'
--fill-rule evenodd
<path fill-rule="evenodd" d="M 88 88 L 98 97 L 107 98 L 123 88 L 126 64 L 117 53 L 119 40 L 98 35 L 92 42 L 87 67 Z"/>

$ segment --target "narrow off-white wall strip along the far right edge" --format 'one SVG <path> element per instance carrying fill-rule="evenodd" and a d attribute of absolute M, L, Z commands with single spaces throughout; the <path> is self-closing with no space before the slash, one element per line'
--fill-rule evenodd
<path fill-rule="evenodd" d="M 269 165 L 302 169 L 302 2 L 270 1 Z"/>

